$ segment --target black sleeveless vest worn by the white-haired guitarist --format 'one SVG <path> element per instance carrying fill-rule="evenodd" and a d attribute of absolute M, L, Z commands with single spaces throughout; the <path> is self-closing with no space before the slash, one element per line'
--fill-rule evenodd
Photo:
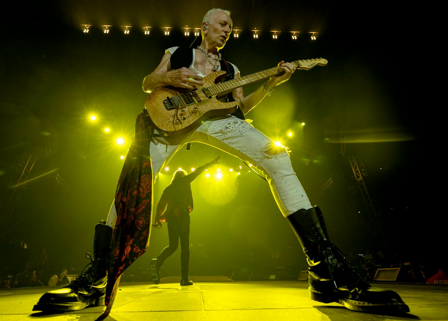
<path fill-rule="evenodd" d="M 194 49 L 192 48 L 178 47 L 170 57 L 171 70 L 179 69 L 182 67 L 189 68 L 191 63 L 193 62 L 193 50 Z M 232 80 L 235 77 L 235 69 L 224 59 L 221 59 L 221 62 L 224 62 L 221 63 L 221 70 L 226 72 L 226 78 L 223 81 Z M 227 94 L 226 100 L 228 102 L 235 101 L 231 92 Z M 246 119 L 239 107 L 237 108 L 237 111 L 235 111 L 232 115 L 240 119 Z"/>

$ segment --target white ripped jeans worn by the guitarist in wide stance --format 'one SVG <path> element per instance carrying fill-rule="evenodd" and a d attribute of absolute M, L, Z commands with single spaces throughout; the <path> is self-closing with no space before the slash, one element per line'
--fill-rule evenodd
<path fill-rule="evenodd" d="M 179 145 L 151 142 L 153 180 L 171 157 L 186 143 L 200 142 L 219 148 L 259 169 L 266 177 L 277 206 L 286 217 L 301 208 L 311 208 L 310 200 L 303 190 L 291 166 L 288 152 L 278 147 L 250 123 L 228 116 L 217 120 L 207 120 L 193 134 Z M 108 225 L 114 227 L 115 205 L 112 203 Z"/>

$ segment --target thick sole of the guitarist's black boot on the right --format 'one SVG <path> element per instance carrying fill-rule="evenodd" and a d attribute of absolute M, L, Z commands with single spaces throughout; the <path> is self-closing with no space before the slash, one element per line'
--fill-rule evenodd
<path fill-rule="evenodd" d="M 340 299 L 334 296 L 319 292 L 309 287 L 311 300 L 332 303 L 337 302 L 342 304 L 345 308 L 352 311 L 375 313 L 375 314 L 399 314 L 409 312 L 409 307 L 404 303 L 391 303 L 391 304 L 374 304 L 369 302 L 354 301 L 349 299 Z"/>

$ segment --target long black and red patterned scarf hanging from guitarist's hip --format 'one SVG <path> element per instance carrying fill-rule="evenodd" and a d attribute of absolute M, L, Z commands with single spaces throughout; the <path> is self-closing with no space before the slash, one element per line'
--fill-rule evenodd
<path fill-rule="evenodd" d="M 143 113 L 135 121 L 135 134 L 121 169 L 115 193 L 117 213 L 112 238 L 106 286 L 106 311 L 112 309 L 121 273 L 139 258 L 149 245 L 152 210 L 152 166 L 149 152 L 151 124 Z"/>

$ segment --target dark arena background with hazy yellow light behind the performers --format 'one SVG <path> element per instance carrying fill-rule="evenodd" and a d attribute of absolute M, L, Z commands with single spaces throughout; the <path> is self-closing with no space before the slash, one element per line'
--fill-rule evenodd
<path fill-rule="evenodd" d="M 346 252 L 382 251 L 391 263 L 440 265 L 446 229 L 443 187 L 437 183 L 443 125 L 434 117 L 440 105 L 427 72 L 434 62 L 422 18 L 409 7 L 378 3 L 212 2 L 210 8 L 231 10 L 234 29 L 242 29 L 221 51 L 241 76 L 280 60 L 328 60 L 325 67 L 298 70 L 246 118 L 292 150 L 293 168 L 311 203 L 321 207 L 332 241 Z M 36 265 L 46 249 L 49 266 L 79 273 L 85 252 L 92 250 L 94 225 L 107 218 L 120 156 L 143 108 L 142 79 L 164 49 L 190 46 L 194 37 L 180 28 L 199 26 L 208 9 L 202 1 L 60 1 L 10 11 L 0 60 L 1 242 L 24 241 Z M 82 32 L 86 23 L 92 25 L 88 34 Z M 103 34 L 103 24 L 113 25 L 109 34 Z M 120 27 L 125 24 L 133 25 L 129 35 Z M 149 36 L 144 25 L 152 27 Z M 172 27 L 168 37 L 163 26 Z M 258 39 L 250 32 L 254 28 Z M 271 38 L 271 29 L 280 30 L 278 39 Z M 301 31 L 296 41 L 290 30 Z M 317 40 L 310 40 L 308 30 L 318 32 Z M 246 87 L 246 95 L 259 85 Z M 89 121 L 90 113 L 97 122 Z M 110 133 L 103 131 L 106 126 Z M 114 143 L 117 135 L 125 137 L 125 147 Z M 204 177 L 192 184 L 190 275 L 222 275 L 247 258 L 304 269 L 300 245 L 269 186 L 240 160 L 194 144 L 169 166 L 198 167 L 220 153 L 223 168 L 243 169 L 221 185 Z M 26 179 L 51 173 L 12 188 L 30 155 L 35 162 Z M 375 235 L 348 156 L 365 166 L 385 236 Z M 154 205 L 171 173 L 155 183 Z M 319 194 L 329 178 L 332 186 Z M 151 233 L 148 253 L 131 267 L 147 268 L 166 245 L 165 226 Z M 272 258 L 276 252 L 279 258 Z M 179 258 L 177 251 L 166 261 L 167 273 L 179 275 Z"/>

